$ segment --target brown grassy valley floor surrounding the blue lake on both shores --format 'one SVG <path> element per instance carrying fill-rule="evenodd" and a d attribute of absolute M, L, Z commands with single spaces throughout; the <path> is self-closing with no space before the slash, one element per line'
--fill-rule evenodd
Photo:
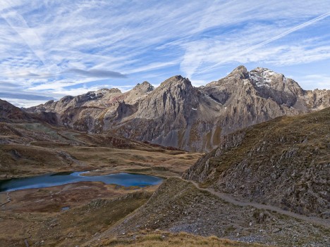
<path fill-rule="evenodd" d="M 106 134 L 86 134 L 23 116 L 0 122 L 1 179 L 74 171 L 90 171 L 89 176 L 133 172 L 166 178 L 181 175 L 202 155 Z M 146 203 L 157 187 L 77 182 L 1 192 L 0 246 L 84 243 Z M 79 236 L 73 236 L 77 230 Z"/>

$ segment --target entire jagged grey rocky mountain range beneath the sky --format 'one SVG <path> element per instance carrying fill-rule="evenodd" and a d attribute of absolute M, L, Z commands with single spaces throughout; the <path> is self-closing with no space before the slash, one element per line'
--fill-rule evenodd
<path fill-rule="evenodd" d="M 211 151 L 221 135 L 330 106 L 330 92 L 304 91 L 297 82 L 265 68 L 243 66 L 195 88 L 174 76 L 154 89 L 148 82 L 121 93 L 101 89 L 28 108 L 56 113 L 59 123 L 85 132 L 112 132 L 189 151 Z"/>

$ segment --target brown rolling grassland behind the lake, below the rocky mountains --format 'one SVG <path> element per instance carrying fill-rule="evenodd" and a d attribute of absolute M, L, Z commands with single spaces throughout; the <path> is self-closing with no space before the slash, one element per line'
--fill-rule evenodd
<path fill-rule="evenodd" d="M 6 122 L 0 122 L 0 179 L 81 170 L 166 177 L 181 174 L 201 155 L 114 134 L 86 134 L 49 125 L 8 102 L 6 108 Z"/>

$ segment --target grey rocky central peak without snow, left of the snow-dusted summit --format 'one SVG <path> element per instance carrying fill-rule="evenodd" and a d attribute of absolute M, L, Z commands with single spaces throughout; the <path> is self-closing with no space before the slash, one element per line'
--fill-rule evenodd
<path fill-rule="evenodd" d="M 124 122 L 116 132 L 164 146 L 200 150 L 200 139 L 212 131 L 214 122 L 209 115 L 199 119 L 201 101 L 202 94 L 189 80 L 171 77 L 140 101 L 134 119 Z"/>

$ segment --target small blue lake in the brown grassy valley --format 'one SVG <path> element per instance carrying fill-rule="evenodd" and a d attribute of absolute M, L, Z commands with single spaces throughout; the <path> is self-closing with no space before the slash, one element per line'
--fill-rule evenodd
<path fill-rule="evenodd" d="M 25 177 L 0 181 L 0 192 L 17 191 L 19 189 L 45 188 L 75 182 L 104 182 L 104 184 L 117 184 L 121 186 L 148 186 L 163 181 L 160 177 L 132 173 L 114 173 L 101 176 L 82 176 L 86 172 L 60 172 L 37 177 Z"/>

